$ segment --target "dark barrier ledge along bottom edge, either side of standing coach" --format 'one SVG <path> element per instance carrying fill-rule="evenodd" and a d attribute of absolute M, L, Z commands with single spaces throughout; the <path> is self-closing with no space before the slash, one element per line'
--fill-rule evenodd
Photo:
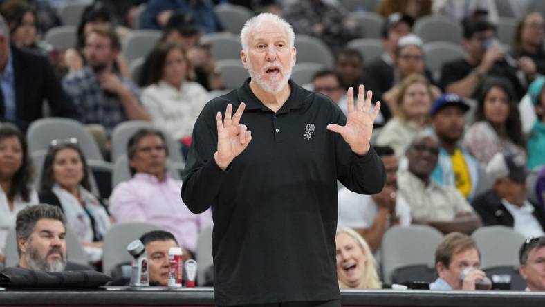
<path fill-rule="evenodd" d="M 1 288 L 0 288 L 1 289 Z M 342 290 L 343 306 L 481 306 L 544 307 L 545 292 Z M 0 306 L 213 306 L 212 288 L 169 290 L 0 290 Z"/>

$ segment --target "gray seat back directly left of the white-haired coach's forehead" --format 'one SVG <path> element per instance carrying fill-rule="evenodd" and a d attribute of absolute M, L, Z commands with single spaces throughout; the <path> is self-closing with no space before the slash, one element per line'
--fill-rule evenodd
<path fill-rule="evenodd" d="M 242 46 L 239 37 L 231 33 L 210 33 L 201 37 L 201 44 L 210 44 L 214 59 L 239 59 Z"/>

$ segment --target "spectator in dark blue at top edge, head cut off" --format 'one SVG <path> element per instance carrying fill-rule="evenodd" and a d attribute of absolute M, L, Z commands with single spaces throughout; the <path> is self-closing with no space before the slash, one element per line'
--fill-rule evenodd
<path fill-rule="evenodd" d="M 142 13 L 142 28 L 160 30 L 176 12 L 190 13 L 201 33 L 221 32 L 223 26 L 209 0 L 148 1 Z"/>

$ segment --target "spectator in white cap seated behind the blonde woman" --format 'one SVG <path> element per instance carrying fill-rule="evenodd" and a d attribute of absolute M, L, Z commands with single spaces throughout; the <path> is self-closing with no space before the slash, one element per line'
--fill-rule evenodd
<path fill-rule="evenodd" d="M 399 39 L 394 55 L 394 67 L 388 78 L 380 81 L 379 86 L 379 91 L 383 93 L 382 102 L 385 102 L 390 109 L 396 109 L 393 104 L 399 91 L 399 85 L 409 75 L 423 75 L 430 83 L 433 81 L 432 74 L 425 68 L 422 48 L 422 39 L 414 34 Z M 433 99 L 441 95 L 441 90 L 436 86 L 432 85 L 431 88 Z"/>

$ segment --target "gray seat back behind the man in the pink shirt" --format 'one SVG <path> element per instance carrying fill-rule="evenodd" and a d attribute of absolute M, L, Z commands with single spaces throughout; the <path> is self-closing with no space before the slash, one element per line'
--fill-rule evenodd
<path fill-rule="evenodd" d="M 129 138 L 133 136 L 136 131 L 142 128 L 159 129 L 152 122 L 145 122 L 143 120 L 127 120 L 122 122 L 113 128 L 111 133 L 111 160 L 116 161 L 120 156 L 127 154 L 127 142 Z M 169 160 L 176 163 L 183 163 L 184 158 L 181 154 L 180 145 L 176 140 L 170 136 L 169 133 L 162 131 L 165 139 L 167 140 L 167 147 L 169 149 Z"/>

